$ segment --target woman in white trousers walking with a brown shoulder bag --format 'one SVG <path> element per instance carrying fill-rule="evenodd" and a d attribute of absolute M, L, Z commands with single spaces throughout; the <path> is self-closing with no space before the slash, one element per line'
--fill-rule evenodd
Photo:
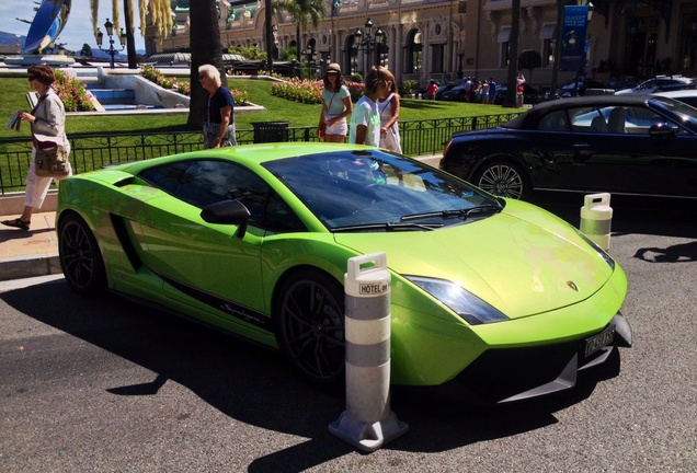
<path fill-rule="evenodd" d="M 38 103 L 30 113 L 22 111 L 20 118 L 32 127 L 32 162 L 26 175 L 24 211 L 19 218 L 3 220 L 5 227 L 28 231 L 34 209 L 41 208 L 52 181 L 59 183 L 72 175 L 68 155 L 70 142 L 66 136 L 66 108 L 53 90 L 54 70 L 45 64 L 30 66 L 30 88 L 38 92 Z"/>

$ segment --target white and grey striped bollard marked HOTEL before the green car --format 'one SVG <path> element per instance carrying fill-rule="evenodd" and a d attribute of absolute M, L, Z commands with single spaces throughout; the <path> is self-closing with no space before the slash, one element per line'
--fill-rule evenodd
<path fill-rule="evenodd" d="M 346 409 L 329 431 L 372 452 L 409 430 L 390 411 L 390 274 L 385 253 L 348 259 Z"/>

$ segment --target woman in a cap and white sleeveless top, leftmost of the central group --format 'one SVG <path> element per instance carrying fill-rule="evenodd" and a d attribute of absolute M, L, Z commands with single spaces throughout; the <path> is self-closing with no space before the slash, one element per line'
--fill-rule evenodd
<path fill-rule="evenodd" d="M 317 137 L 325 142 L 344 142 L 348 132 L 346 117 L 353 112 L 351 92 L 341 74 L 341 66 L 330 64 L 324 72 L 322 91 L 322 113 L 320 114 Z"/>

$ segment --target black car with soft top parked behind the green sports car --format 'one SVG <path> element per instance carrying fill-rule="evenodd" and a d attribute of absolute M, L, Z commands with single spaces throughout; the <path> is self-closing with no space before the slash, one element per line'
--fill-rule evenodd
<path fill-rule="evenodd" d="M 458 132 L 441 168 L 495 195 L 533 189 L 697 197 L 697 111 L 655 95 L 545 102 L 498 128 Z"/>

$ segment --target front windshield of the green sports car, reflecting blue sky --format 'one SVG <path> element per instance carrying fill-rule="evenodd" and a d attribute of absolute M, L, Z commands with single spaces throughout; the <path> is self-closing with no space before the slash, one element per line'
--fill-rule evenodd
<path fill-rule="evenodd" d="M 419 161 L 381 150 L 263 163 L 332 231 L 433 230 L 488 218 L 494 197 Z"/>

